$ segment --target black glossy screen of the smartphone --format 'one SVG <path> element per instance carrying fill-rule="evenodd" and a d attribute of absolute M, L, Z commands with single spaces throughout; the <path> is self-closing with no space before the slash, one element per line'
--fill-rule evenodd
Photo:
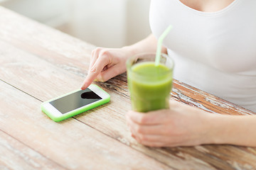
<path fill-rule="evenodd" d="M 60 113 L 65 114 L 87 104 L 99 101 L 100 96 L 90 89 L 80 90 L 68 96 L 58 98 L 55 101 L 50 101 L 50 104 L 55 107 Z"/>

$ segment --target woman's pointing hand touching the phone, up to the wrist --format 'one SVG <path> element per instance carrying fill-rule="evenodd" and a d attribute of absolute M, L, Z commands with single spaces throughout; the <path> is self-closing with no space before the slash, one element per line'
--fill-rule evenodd
<path fill-rule="evenodd" d="M 133 55 L 128 47 L 102 48 L 97 47 L 92 51 L 89 73 L 82 83 L 81 89 L 86 89 L 92 81 L 107 81 L 112 77 L 126 71 L 125 62 Z"/>

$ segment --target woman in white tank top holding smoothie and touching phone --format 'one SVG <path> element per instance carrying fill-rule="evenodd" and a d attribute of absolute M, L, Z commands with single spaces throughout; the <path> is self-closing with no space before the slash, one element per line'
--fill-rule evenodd
<path fill-rule="evenodd" d="M 82 89 L 125 72 L 128 57 L 162 52 L 174 58 L 174 78 L 256 111 L 256 1 L 151 0 L 152 35 L 120 49 L 97 48 Z M 151 147 L 232 144 L 256 147 L 256 115 L 217 115 L 170 101 L 170 109 L 127 113 L 132 136 Z"/>

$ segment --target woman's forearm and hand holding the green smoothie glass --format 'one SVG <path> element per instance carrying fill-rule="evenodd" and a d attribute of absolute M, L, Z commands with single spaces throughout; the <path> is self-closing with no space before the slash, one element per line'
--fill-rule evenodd
<path fill-rule="evenodd" d="M 170 101 L 170 109 L 127 113 L 132 136 L 151 147 L 232 144 L 256 147 L 256 115 L 217 115 Z"/>

